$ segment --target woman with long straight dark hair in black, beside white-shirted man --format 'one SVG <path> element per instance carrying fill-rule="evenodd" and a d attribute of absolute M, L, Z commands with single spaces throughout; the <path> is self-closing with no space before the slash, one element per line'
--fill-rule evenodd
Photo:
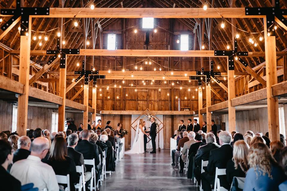
<path fill-rule="evenodd" d="M 56 175 L 70 175 L 70 190 L 74 191 L 74 184 L 79 180 L 77 177 L 76 165 L 73 159 L 68 157 L 67 142 L 62 136 L 54 138 L 51 146 L 50 156 L 47 161 Z M 64 187 L 67 187 L 64 184 Z"/>

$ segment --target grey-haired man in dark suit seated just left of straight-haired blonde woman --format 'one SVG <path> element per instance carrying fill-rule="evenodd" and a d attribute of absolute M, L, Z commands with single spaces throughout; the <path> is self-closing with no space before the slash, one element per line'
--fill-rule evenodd
<path fill-rule="evenodd" d="M 210 184 L 214 184 L 216 167 L 219 169 L 226 168 L 227 161 L 233 156 L 233 148 L 230 145 L 231 134 L 228 131 L 222 131 L 219 133 L 220 148 L 210 151 L 207 172 L 201 173 L 202 188 L 204 191 L 211 191 Z M 220 186 L 229 189 L 229 184 L 226 180 L 226 176 L 219 177 Z M 213 185 L 214 186 L 214 185 Z"/>

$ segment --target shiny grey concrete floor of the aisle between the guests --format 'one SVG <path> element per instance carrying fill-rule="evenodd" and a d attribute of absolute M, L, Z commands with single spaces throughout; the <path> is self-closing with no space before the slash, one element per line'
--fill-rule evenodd
<path fill-rule="evenodd" d="M 170 150 L 156 154 L 125 155 L 117 164 L 116 171 L 104 179 L 101 191 L 130 190 L 199 190 L 190 179 L 171 166 Z"/>

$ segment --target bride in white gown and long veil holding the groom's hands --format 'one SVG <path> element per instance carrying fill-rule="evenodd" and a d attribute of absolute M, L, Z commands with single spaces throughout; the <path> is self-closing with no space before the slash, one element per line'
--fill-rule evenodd
<path fill-rule="evenodd" d="M 136 133 L 135 133 L 135 139 L 132 144 L 132 147 L 130 150 L 126 151 L 125 154 L 140 154 L 144 153 L 144 134 L 149 136 L 148 133 L 144 132 L 144 125 L 143 125 L 143 119 L 140 119 L 138 121 Z"/>

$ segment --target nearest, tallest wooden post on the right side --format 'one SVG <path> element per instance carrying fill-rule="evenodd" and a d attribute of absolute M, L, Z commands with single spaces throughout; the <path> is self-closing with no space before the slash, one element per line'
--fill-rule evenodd
<path fill-rule="evenodd" d="M 280 140 L 278 98 L 272 96 L 271 89 L 272 85 L 277 84 L 276 38 L 268 36 L 267 33 L 264 18 L 268 131 L 270 140 L 276 141 Z"/>

